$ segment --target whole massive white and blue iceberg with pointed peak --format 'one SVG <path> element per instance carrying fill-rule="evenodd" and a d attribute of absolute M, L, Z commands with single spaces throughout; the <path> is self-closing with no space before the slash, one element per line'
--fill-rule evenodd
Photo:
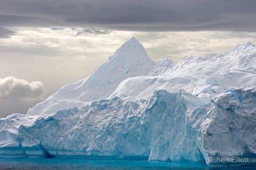
<path fill-rule="evenodd" d="M 153 62 L 135 38 L 26 115 L 0 119 L 0 157 L 256 164 L 256 47 Z"/>

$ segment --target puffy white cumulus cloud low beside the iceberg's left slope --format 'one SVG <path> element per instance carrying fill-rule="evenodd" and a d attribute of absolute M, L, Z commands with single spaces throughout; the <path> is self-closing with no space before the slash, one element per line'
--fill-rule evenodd
<path fill-rule="evenodd" d="M 44 99 L 41 81 L 27 81 L 13 76 L 0 78 L 0 117 L 26 113 L 29 107 Z"/>

